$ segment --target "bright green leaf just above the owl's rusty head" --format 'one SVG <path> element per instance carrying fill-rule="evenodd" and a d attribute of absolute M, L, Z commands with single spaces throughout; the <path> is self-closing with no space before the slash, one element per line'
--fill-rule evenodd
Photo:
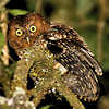
<path fill-rule="evenodd" d="M 20 10 L 20 9 L 12 9 L 12 10 L 9 10 L 9 13 L 12 14 L 13 16 L 16 16 L 16 15 L 24 15 L 27 13 L 27 11 Z"/>

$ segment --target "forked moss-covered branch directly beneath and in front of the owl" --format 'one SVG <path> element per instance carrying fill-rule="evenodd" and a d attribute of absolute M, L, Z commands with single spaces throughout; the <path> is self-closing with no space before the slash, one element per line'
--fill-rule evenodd
<path fill-rule="evenodd" d="M 34 96 L 33 101 L 37 107 L 49 89 L 56 88 L 74 109 L 85 109 L 72 90 L 62 83 L 60 71 L 55 69 L 57 62 L 49 51 L 44 50 L 41 47 L 32 47 L 23 52 L 24 55 L 22 60 L 17 62 L 17 69 L 11 84 L 12 92 L 15 90 L 15 87 L 24 88 L 27 99 Z M 39 80 L 36 81 L 35 87 L 29 90 L 27 89 L 28 75 L 34 82 L 36 78 Z"/>

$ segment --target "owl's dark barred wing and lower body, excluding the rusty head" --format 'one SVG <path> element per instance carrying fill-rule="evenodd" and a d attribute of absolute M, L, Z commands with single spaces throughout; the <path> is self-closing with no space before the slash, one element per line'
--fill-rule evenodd
<path fill-rule="evenodd" d="M 78 97 L 96 100 L 99 95 L 97 75 L 102 72 L 81 36 L 70 27 L 55 25 L 45 37 L 48 49 L 68 70 L 62 76 L 66 86 Z"/>

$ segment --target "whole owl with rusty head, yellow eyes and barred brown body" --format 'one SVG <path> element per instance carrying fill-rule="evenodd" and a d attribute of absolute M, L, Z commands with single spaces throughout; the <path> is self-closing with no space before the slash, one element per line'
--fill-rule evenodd
<path fill-rule="evenodd" d="M 61 66 L 66 87 L 87 101 L 99 97 L 101 68 L 73 27 L 49 22 L 37 13 L 27 13 L 10 21 L 8 41 L 19 57 L 23 49 L 35 45 L 49 50 L 58 62 L 55 68 Z"/>

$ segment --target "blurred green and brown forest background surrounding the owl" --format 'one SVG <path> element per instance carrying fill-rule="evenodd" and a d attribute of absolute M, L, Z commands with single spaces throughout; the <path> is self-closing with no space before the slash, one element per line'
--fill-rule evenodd
<path fill-rule="evenodd" d="M 104 71 L 102 96 L 88 107 L 109 109 L 109 0 L 0 0 L 0 61 L 10 76 L 15 57 L 8 53 L 7 23 L 15 15 L 33 11 L 52 22 L 73 26 L 84 37 Z"/>

